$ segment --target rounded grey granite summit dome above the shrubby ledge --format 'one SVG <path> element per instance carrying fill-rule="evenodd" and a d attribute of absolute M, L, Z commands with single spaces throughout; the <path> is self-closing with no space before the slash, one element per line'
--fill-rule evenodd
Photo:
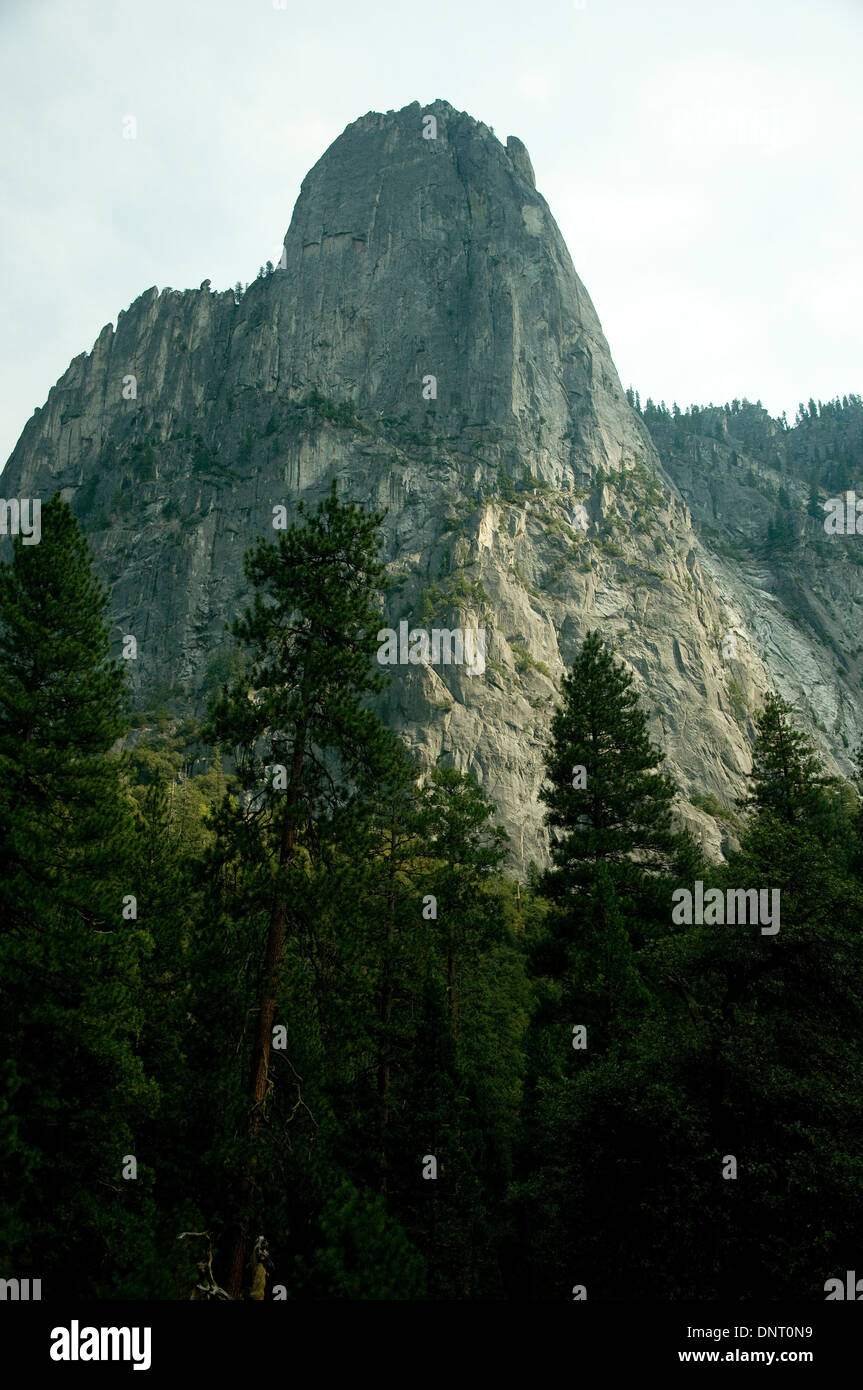
<path fill-rule="evenodd" d="M 593 377 L 623 396 L 524 143 L 447 101 L 352 122 L 303 181 L 283 247 L 285 360 L 360 410 L 413 416 L 434 375 L 438 418 L 504 428 L 527 411 L 557 452 Z"/>

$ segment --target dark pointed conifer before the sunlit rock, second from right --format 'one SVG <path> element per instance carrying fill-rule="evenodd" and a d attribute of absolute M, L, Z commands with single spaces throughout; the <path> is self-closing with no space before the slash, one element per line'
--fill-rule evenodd
<path fill-rule="evenodd" d="M 639 1209 L 632 1040 L 649 1030 L 663 994 L 655 941 L 670 930 L 671 876 L 693 862 L 691 841 L 673 831 L 674 787 L 661 762 L 631 674 L 589 632 L 564 677 L 545 755 L 541 796 L 556 833 L 543 877 L 552 910 L 529 941 L 536 1008 L 516 1209 L 541 1297 L 566 1297 L 567 1250 L 580 1251 L 593 1293 L 617 1293 L 623 1229 Z M 656 1109 L 646 1106 L 646 1115 Z M 632 1175 L 628 1193 L 609 1166 L 614 1152 Z M 599 1225 L 593 1212 L 602 1212 Z M 603 1240 L 611 1266 L 605 1270 L 599 1254 L 588 1265 L 588 1251 L 602 1251 Z"/>

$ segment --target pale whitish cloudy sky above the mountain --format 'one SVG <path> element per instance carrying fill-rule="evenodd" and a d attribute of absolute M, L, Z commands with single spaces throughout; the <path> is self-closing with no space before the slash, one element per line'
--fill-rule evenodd
<path fill-rule="evenodd" d="M 863 0 L 0 0 L 0 461 L 142 291 L 253 279 L 350 121 L 438 97 L 524 140 L 642 400 L 863 392 L 862 74 Z"/>

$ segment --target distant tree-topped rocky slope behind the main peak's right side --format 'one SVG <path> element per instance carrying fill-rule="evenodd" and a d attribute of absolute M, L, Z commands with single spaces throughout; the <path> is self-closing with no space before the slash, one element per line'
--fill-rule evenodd
<path fill-rule="evenodd" d="M 803 409 L 803 407 L 802 407 Z M 848 774 L 863 733 L 863 535 L 827 534 L 828 498 L 863 482 L 863 400 L 788 430 L 750 402 L 677 418 L 646 411 L 687 498 L 702 566 L 773 684 Z"/>

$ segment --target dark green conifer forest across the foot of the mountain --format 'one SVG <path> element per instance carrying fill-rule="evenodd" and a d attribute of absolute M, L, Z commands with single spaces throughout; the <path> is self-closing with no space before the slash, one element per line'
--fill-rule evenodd
<path fill-rule="evenodd" d="M 769 696 L 739 848 L 705 865 L 591 632 L 550 867 L 514 884 L 475 781 L 370 712 L 379 521 L 334 491 L 258 542 L 208 727 L 142 714 L 124 759 L 69 509 L 0 570 L 4 1269 L 206 1298 L 211 1258 L 249 1297 L 261 1234 L 292 1301 L 821 1298 L 863 1225 L 857 794 Z M 698 880 L 778 891 L 781 930 L 677 923 Z"/>

